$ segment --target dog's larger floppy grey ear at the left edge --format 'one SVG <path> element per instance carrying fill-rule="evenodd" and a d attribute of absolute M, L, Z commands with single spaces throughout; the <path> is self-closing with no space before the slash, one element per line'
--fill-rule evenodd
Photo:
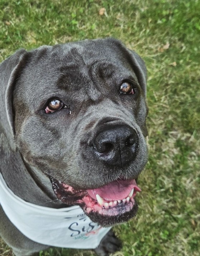
<path fill-rule="evenodd" d="M 14 143 L 15 128 L 12 96 L 26 53 L 27 51 L 24 49 L 18 50 L 0 64 L 0 133 L 4 133 L 13 151 L 16 150 L 16 145 Z"/>

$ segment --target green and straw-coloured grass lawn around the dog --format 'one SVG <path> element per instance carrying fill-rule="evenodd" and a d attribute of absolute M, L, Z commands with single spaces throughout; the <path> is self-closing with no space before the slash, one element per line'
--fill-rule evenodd
<path fill-rule="evenodd" d="M 199 0 L 0 1 L 0 61 L 22 47 L 112 36 L 146 62 L 149 162 L 137 217 L 115 227 L 123 248 L 114 256 L 200 255 L 199 10 Z M 0 256 L 11 256 L 3 241 Z"/>

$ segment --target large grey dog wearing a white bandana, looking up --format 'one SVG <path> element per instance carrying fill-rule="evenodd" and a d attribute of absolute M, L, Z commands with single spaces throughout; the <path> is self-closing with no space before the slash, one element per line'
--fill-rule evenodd
<path fill-rule="evenodd" d="M 120 250 L 110 227 L 135 216 L 148 159 L 144 61 L 84 40 L 18 50 L 0 76 L 1 237 L 16 256 Z"/>

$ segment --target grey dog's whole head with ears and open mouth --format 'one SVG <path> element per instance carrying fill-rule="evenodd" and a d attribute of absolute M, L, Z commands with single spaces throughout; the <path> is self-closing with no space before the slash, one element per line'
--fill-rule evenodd
<path fill-rule="evenodd" d="M 143 60 L 117 40 L 85 40 L 20 50 L 0 73 L 1 130 L 12 149 L 91 220 L 111 225 L 134 216 L 147 162 Z"/>

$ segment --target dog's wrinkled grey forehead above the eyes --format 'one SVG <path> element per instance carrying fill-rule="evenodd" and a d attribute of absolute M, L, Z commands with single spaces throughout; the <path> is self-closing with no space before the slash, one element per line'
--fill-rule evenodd
<path fill-rule="evenodd" d="M 27 104 L 46 101 L 62 93 L 81 96 L 81 99 L 93 96 L 95 100 L 108 89 L 101 87 L 103 81 L 120 81 L 124 76 L 134 76 L 137 80 L 116 47 L 91 41 L 43 46 L 30 52 L 15 91 Z"/>

